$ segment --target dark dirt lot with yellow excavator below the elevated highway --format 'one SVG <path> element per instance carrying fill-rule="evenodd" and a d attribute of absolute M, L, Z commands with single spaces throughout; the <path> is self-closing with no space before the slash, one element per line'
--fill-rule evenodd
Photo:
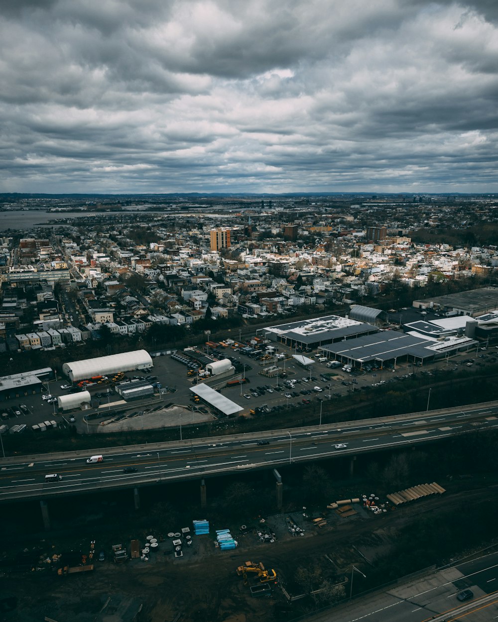
<path fill-rule="evenodd" d="M 48 569 L 6 572 L 1 579 L 2 596 L 17 596 L 18 605 L 14 611 L 0 613 L 0 621 L 31 622 L 43 619 L 40 616 L 57 622 L 100 620 L 96 615 L 109 597 L 121 598 L 135 608 L 143 603 L 137 618 L 142 622 L 259 622 L 263 616 L 266 620 L 291 620 L 302 613 L 302 603 L 289 604 L 282 588 L 294 595 L 302 591 L 294 582 L 296 569 L 319 564 L 324 576 L 336 582 L 344 580 L 350 564 L 361 567 L 367 563 L 365 558 L 371 561 L 375 555 L 388 552 L 398 529 L 422 514 L 437 516 L 438 510 L 452 507 L 458 512 L 469 501 L 478 503 L 489 495 L 488 488 L 478 488 L 475 483 L 472 487 L 464 482 L 452 486 L 443 497 L 426 499 L 381 516 L 367 514 L 359 505 L 354 506 L 358 513 L 347 519 L 328 511 L 327 525 L 322 529 L 312 526 L 302 512 L 268 516 L 265 523 L 255 518 L 253 524 L 247 525 L 246 534 L 237 533 L 232 527 L 239 543 L 236 550 L 223 552 L 215 548 L 214 529 L 225 526 L 212 524 L 209 536 L 193 536 L 194 544 L 184 547 L 181 559 L 168 552 L 173 548 L 171 537 L 154 532 L 160 544 L 148 562 L 136 559 L 115 565 L 106 559 L 95 562 L 94 572 L 66 577 L 57 577 Z M 304 536 L 289 533 L 288 518 L 303 527 Z M 191 524 L 188 526 L 192 529 Z M 260 542 L 258 529 L 274 532 L 276 541 Z M 31 545 L 36 544 L 44 554 L 52 555 L 68 542 L 77 542 L 77 529 L 49 537 L 32 541 Z M 145 535 L 141 545 L 144 542 Z M 261 561 L 278 573 L 280 583 L 273 586 L 270 596 L 251 598 L 249 588 L 235 572 L 247 560 Z M 120 619 L 128 618 L 123 615 Z"/>

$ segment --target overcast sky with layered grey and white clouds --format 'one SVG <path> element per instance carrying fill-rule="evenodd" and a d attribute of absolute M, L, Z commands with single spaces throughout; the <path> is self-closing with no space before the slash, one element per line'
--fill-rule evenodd
<path fill-rule="evenodd" d="M 498 2 L 2 0 L 0 192 L 498 192 Z"/>

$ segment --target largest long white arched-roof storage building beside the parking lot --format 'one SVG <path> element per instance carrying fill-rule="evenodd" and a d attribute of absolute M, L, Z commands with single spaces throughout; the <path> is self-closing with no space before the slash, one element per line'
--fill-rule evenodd
<path fill-rule="evenodd" d="M 110 356 L 87 358 L 83 361 L 64 363 L 62 373 L 73 382 L 87 380 L 92 376 L 110 376 L 119 371 L 134 371 L 153 367 L 151 356 L 146 350 L 133 350 Z"/>

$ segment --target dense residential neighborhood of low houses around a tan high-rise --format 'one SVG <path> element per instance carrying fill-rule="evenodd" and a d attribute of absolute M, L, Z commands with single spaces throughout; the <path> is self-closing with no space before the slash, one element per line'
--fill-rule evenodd
<path fill-rule="evenodd" d="M 61 218 L 51 202 L 50 225 L 1 238 L 0 351 L 109 334 L 159 345 L 175 335 L 164 327 L 199 333 L 354 304 L 398 310 L 496 282 L 494 199 L 356 198 L 111 204 L 96 217 L 78 207 L 80 218 Z M 34 213 L 26 201 L 3 208 L 21 206 Z"/>

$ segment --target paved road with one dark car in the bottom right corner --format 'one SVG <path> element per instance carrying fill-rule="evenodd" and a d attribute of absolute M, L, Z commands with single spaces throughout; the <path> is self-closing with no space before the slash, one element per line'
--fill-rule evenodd
<path fill-rule="evenodd" d="M 365 571 L 367 572 L 367 571 Z M 357 578 L 358 577 L 358 578 Z M 355 581 L 361 581 L 357 575 Z M 464 589 L 474 597 L 461 603 Z M 489 622 L 498 619 L 498 553 L 431 573 L 307 618 L 307 622 Z"/>

